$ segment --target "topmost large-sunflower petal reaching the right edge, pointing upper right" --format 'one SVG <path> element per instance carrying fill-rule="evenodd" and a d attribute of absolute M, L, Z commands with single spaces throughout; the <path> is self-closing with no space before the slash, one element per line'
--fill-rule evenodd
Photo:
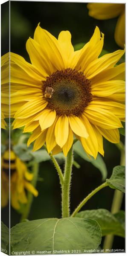
<path fill-rule="evenodd" d="M 112 68 L 119 61 L 125 50 L 117 50 L 116 52 L 108 53 L 92 61 L 84 71 L 87 79 L 92 79 L 94 76 L 101 73 L 107 68 Z"/>

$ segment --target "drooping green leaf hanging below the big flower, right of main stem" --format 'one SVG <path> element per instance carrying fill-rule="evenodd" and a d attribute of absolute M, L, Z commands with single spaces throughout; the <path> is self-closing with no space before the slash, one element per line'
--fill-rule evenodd
<path fill-rule="evenodd" d="M 102 159 L 102 157 L 100 156 L 100 154 L 97 155 L 96 160 L 90 156 L 90 158 L 87 156 L 87 154 L 84 151 L 84 148 L 82 147 L 80 141 L 77 141 L 74 146 L 74 151 L 84 160 L 86 160 L 87 162 L 90 162 L 93 164 L 93 166 L 95 166 L 97 169 L 99 169 L 99 171 L 102 174 L 102 180 L 105 180 L 107 177 L 107 168 L 105 165 L 104 160 Z"/>

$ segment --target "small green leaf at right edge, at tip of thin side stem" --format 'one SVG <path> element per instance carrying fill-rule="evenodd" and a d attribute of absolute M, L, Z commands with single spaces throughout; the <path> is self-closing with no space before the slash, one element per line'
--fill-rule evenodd
<path fill-rule="evenodd" d="M 125 193 L 125 166 L 114 167 L 111 177 L 106 182 L 112 189 L 118 189 Z"/>

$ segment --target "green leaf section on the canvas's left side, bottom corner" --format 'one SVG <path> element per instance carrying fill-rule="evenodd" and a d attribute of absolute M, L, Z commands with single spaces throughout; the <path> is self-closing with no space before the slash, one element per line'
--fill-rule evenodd
<path fill-rule="evenodd" d="M 7 249 L 9 244 L 9 228 L 1 221 L 1 248 L 3 250 Z M 3 251 L 4 252 L 4 251 Z"/>

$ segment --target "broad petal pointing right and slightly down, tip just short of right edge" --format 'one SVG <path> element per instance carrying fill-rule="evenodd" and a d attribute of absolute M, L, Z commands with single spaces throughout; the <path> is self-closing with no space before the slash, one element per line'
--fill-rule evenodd
<path fill-rule="evenodd" d="M 99 108 L 95 105 L 89 105 L 84 111 L 85 116 L 93 125 L 98 125 L 105 129 L 114 129 L 122 127 L 118 117 L 110 111 Z"/>

